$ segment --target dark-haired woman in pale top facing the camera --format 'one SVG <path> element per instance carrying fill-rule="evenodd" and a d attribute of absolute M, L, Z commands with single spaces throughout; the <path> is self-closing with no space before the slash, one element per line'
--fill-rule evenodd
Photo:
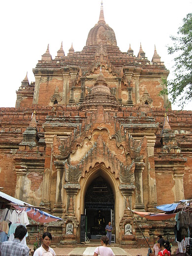
<path fill-rule="evenodd" d="M 34 252 L 33 256 L 55 256 L 54 250 L 49 247 L 52 241 L 52 235 L 49 232 L 45 232 L 42 236 L 43 244 Z"/>

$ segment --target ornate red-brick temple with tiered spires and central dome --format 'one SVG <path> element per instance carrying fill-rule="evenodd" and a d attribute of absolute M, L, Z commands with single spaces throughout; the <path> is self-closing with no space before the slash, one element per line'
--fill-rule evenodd
<path fill-rule="evenodd" d="M 145 244 L 128 207 L 192 198 L 192 111 L 160 95 L 169 71 L 156 48 L 152 61 L 141 45 L 121 52 L 101 5 L 83 50 L 62 44 L 52 59 L 48 45 L 33 73 L 16 107 L 0 108 L 1 191 L 63 218 L 49 224 L 58 243 L 82 242 L 85 222 L 96 239 L 111 221 L 116 243 Z M 174 221 L 135 218 L 152 243 L 173 235 Z"/>

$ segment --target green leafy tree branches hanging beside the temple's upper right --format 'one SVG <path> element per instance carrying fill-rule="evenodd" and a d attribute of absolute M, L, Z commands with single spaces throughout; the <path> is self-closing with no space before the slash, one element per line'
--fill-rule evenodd
<path fill-rule="evenodd" d="M 173 46 L 168 47 L 168 54 L 174 55 L 174 78 L 167 81 L 168 93 L 172 102 L 178 101 L 183 106 L 192 101 L 192 13 L 183 19 L 177 36 L 170 36 Z"/>

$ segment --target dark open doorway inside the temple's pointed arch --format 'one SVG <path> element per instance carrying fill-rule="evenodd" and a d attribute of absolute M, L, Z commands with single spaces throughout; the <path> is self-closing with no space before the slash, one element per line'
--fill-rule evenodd
<path fill-rule="evenodd" d="M 98 176 L 87 189 L 85 194 L 85 214 L 87 217 L 87 236 L 96 239 L 105 235 L 105 226 L 115 222 L 115 199 L 110 184 Z"/>

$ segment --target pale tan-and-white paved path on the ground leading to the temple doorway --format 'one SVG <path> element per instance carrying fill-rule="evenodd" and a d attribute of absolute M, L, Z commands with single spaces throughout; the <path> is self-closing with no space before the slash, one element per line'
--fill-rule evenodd
<path fill-rule="evenodd" d="M 68 256 L 93 256 L 95 249 L 96 247 L 74 248 Z M 111 247 L 111 249 L 115 256 L 129 256 L 129 254 L 120 247 Z"/>

